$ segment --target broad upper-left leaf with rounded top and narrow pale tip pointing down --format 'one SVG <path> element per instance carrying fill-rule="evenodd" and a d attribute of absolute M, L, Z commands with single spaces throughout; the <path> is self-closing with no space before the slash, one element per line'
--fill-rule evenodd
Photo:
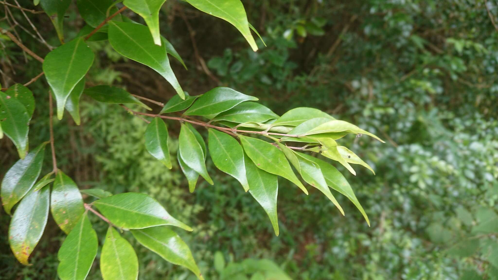
<path fill-rule="evenodd" d="M 45 56 L 43 72 L 57 102 L 57 119 L 62 120 L 66 101 L 76 84 L 93 64 L 95 54 L 83 38 L 76 38 Z"/>

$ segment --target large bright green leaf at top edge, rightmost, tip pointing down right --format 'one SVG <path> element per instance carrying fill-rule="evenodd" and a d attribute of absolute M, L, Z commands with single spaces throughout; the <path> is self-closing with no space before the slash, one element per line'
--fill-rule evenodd
<path fill-rule="evenodd" d="M 225 19 L 234 25 L 248 41 L 253 51 L 257 45 L 249 30 L 249 22 L 240 0 L 186 0 L 197 9 L 210 15 Z"/>

